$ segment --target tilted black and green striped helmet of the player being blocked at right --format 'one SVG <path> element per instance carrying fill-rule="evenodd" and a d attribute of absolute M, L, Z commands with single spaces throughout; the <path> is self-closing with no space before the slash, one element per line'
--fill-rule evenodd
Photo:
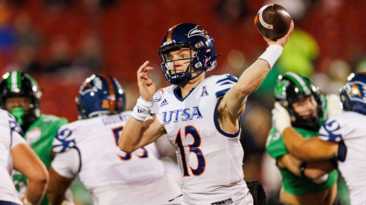
<path fill-rule="evenodd" d="M 272 94 L 275 100 L 280 102 L 290 113 L 293 127 L 312 131 L 319 130 L 320 120 L 324 113 L 322 100 L 319 87 L 315 86 L 308 77 L 294 72 L 286 72 L 283 75 L 279 75 Z M 295 112 L 292 103 L 308 98 L 311 95 L 314 96 L 317 102 L 317 115 L 311 119 L 303 119 Z"/>

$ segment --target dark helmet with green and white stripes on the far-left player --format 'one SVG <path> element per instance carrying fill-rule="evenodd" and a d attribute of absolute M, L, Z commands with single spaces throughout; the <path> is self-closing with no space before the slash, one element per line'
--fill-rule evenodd
<path fill-rule="evenodd" d="M 6 109 L 5 102 L 9 97 L 27 97 L 31 100 L 29 113 L 22 113 L 20 117 L 15 116 L 19 124 L 29 126 L 40 116 L 41 96 L 37 81 L 31 75 L 21 71 L 7 72 L 3 75 L 0 82 L 0 107 L 2 109 Z"/>

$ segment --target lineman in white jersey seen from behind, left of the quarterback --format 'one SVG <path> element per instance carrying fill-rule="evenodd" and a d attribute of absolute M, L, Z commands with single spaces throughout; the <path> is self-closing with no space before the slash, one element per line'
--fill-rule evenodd
<path fill-rule="evenodd" d="M 80 120 L 60 127 L 53 141 L 48 197 L 59 204 L 76 175 L 92 193 L 95 204 L 177 204 L 181 193 L 164 173 L 155 143 L 133 153 L 118 149 L 118 137 L 131 111 L 125 91 L 105 74 L 87 78 L 79 90 Z"/>

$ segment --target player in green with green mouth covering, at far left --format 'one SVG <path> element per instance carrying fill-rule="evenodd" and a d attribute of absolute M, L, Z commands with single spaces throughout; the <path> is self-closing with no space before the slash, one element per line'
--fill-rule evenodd
<path fill-rule="evenodd" d="M 66 118 L 41 114 L 42 93 L 36 80 L 29 74 L 12 71 L 5 73 L 0 83 L 0 106 L 10 112 L 20 124 L 24 139 L 40 157 L 47 169 L 51 165 L 52 141 L 58 128 L 67 124 Z M 27 179 L 20 173 L 13 173 L 15 187 L 22 197 L 26 191 Z M 48 205 L 46 196 L 41 205 Z"/>

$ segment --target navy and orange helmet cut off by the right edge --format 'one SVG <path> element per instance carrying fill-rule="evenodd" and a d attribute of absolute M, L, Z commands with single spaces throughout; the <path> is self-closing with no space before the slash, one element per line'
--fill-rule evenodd
<path fill-rule="evenodd" d="M 340 96 L 344 110 L 366 115 L 366 72 L 350 74 Z"/>

